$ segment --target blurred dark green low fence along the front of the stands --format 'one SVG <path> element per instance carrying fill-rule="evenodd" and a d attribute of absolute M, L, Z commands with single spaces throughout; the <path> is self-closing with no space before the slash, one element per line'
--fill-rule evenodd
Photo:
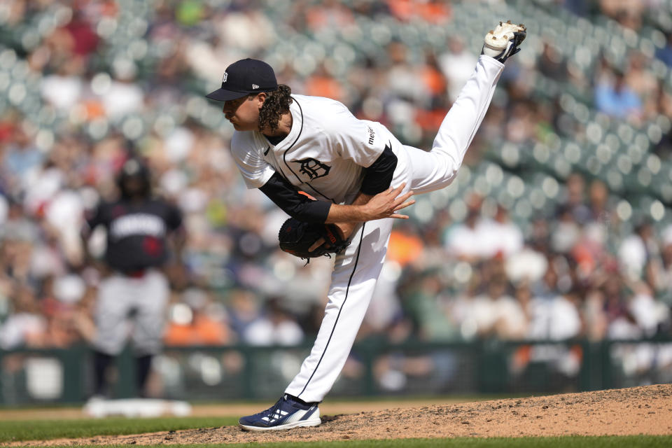
<path fill-rule="evenodd" d="M 309 345 L 166 347 L 151 390 L 212 402 L 272 399 Z M 118 358 L 114 398 L 136 395 L 132 351 Z M 0 351 L 0 405 L 80 403 L 91 390 L 91 351 Z M 420 342 L 367 340 L 354 346 L 332 397 L 526 395 L 672 381 L 672 338 L 566 341 Z"/>

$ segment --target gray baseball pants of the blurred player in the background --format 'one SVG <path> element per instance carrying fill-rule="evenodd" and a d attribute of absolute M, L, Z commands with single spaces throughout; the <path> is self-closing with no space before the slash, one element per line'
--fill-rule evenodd
<path fill-rule="evenodd" d="M 137 356 L 159 353 L 169 294 L 168 281 L 156 269 L 141 277 L 113 274 L 101 281 L 95 348 L 116 356 L 130 335 Z"/>

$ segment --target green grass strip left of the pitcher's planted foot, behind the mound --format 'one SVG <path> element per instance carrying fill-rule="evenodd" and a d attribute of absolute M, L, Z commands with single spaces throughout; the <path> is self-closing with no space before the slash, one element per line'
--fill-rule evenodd
<path fill-rule="evenodd" d="M 18 420 L 0 421 L 0 443 L 60 437 L 138 434 L 189 428 L 235 425 L 236 417 L 159 417 L 156 419 Z"/>

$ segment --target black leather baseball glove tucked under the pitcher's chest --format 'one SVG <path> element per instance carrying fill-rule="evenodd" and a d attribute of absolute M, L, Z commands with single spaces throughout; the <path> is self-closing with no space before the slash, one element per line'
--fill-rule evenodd
<path fill-rule="evenodd" d="M 315 242 L 323 238 L 325 243 L 310 251 Z M 350 241 L 343 239 L 333 224 L 304 223 L 295 218 L 289 218 L 280 228 L 278 234 L 280 248 L 299 258 L 313 258 L 332 253 L 339 253 L 349 246 Z"/>

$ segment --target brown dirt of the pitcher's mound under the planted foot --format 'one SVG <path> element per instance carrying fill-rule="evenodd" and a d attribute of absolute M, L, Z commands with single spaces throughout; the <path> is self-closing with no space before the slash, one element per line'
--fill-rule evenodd
<path fill-rule="evenodd" d="M 322 425 L 316 428 L 267 433 L 248 433 L 235 426 L 223 426 L 140 435 L 16 442 L 8 446 L 305 442 L 410 437 L 666 435 L 672 434 L 672 385 L 385 409 L 323 416 L 322 421 Z"/>

